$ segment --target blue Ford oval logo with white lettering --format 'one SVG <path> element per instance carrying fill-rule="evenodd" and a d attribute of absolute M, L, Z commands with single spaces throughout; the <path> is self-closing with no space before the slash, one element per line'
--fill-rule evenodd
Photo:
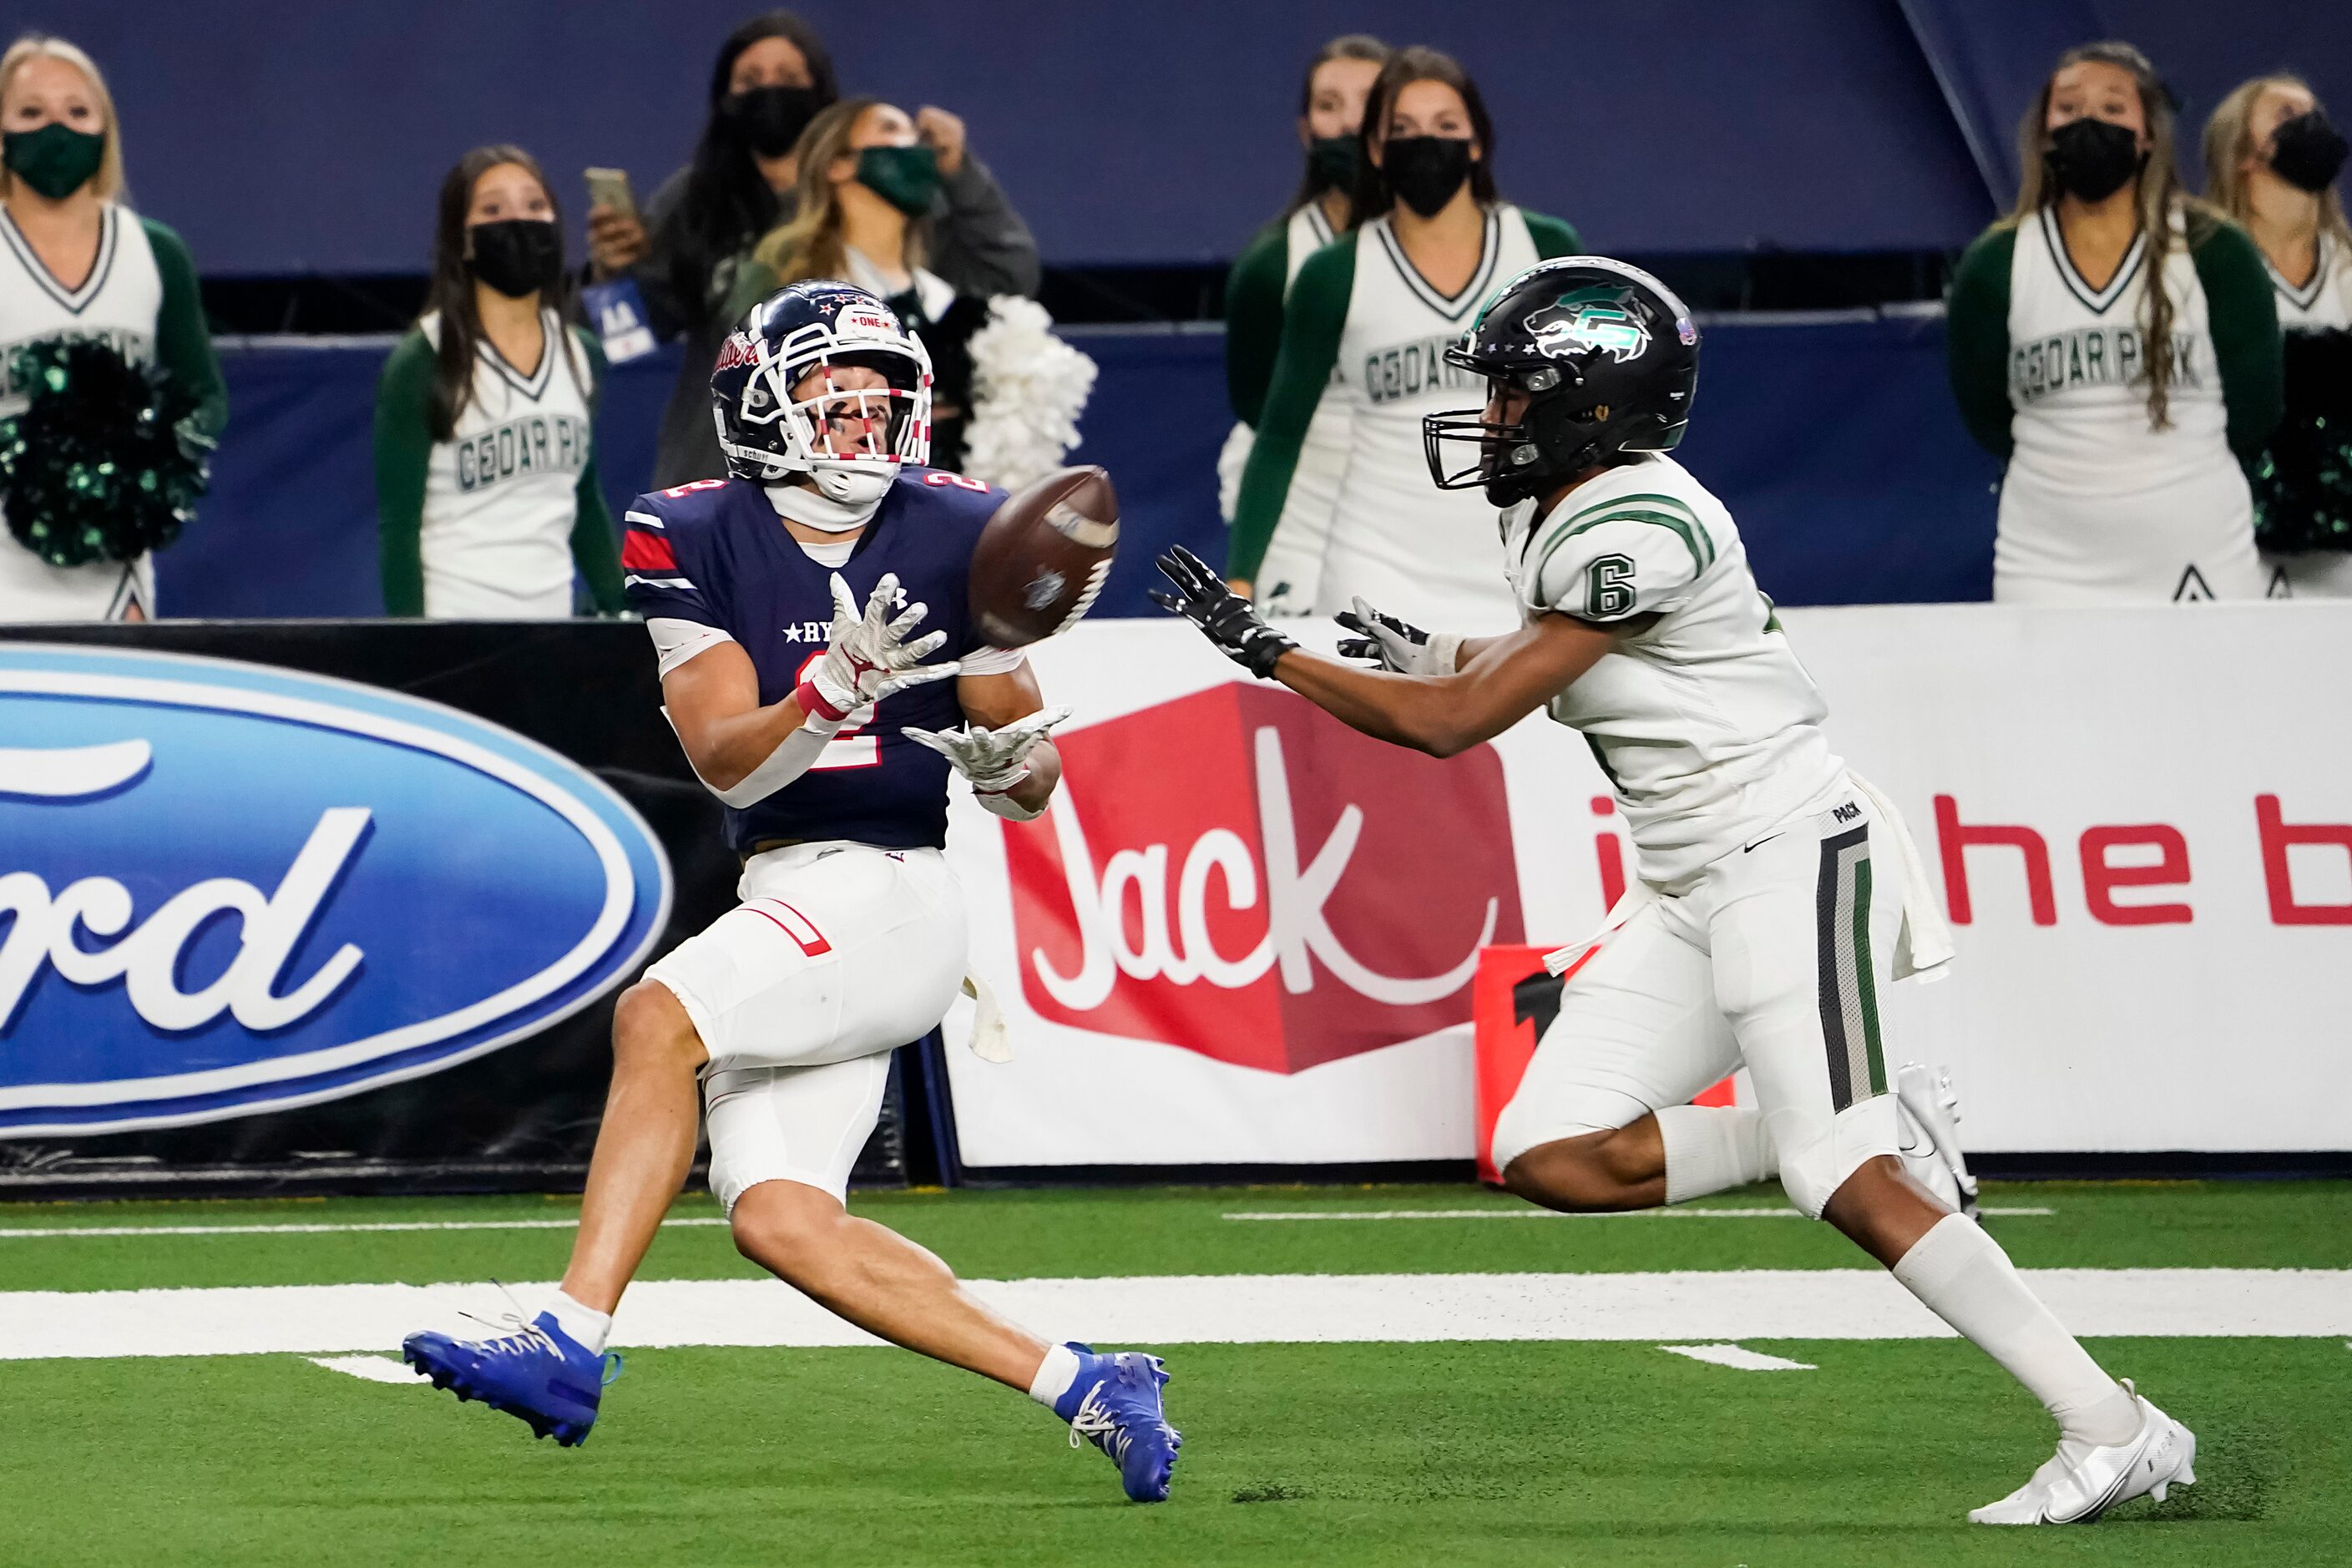
<path fill-rule="evenodd" d="M 306 1105 L 612 990 L 670 863 L 579 764 L 412 696 L 0 649 L 0 1138 Z"/>

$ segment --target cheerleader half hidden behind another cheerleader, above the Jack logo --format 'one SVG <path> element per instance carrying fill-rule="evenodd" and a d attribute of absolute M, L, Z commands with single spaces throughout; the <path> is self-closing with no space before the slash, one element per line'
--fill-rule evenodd
<path fill-rule="evenodd" d="M 1225 277 L 1225 393 L 1232 400 L 1232 430 L 1216 458 L 1216 501 L 1225 522 L 1232 522 L 1242 496 L 1242 468 L 1265 409 L 1265 386 L 1275 376 L 1282 299 L 1308 256 L 1355 228 L 1357 132 L 1364 125 L 1364 99 L 1385 63 L 1388 45 L 1364 33 L 1345 33 L 1315 52 L 1298 89 L 1298 141 L 1305 148 L 1298 193 L 1279 219 L 1258 230 Z M 1315 614 L 1331 501 L 1345 468 L 1348 404 L 1324 397 L 1308 421 L 1282 520 L 1258 562 L 1258 581 L 1265 585 L 1258 604 L 1265 614 Z M 1232 588 L 1251 590 L 1244 581 Z"/>

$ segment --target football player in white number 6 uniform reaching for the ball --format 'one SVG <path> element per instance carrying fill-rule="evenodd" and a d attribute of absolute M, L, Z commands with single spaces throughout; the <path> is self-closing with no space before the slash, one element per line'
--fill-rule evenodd
<path fill-rule="evenodd" d="M 1548 708 L 1609 771 L 1639 879 L 1595 945 L 1552 954 L 1588 961 L 1496 1126 L 1503 1180 L 1618 1211 L 1778 1171 L 2058 1418 L 2058 1453 L 1980 1523 L 2084 1521 L 2192 1481 L 2190 1429 L 2100 1371 L 1900 1159 L 1915 1095 L 1889 1093 L 1879 994 L 1947 961 L 1950 936 L 1900 818 L 1830 750 L 1731 515 L 1665 456 L 1698 383 L 1682 301 L 1618 261 L 1548 261 L 1449 357 L 1486 407 L 1428 418 L 1430 473 L 1505 508 L 1519 630 L 1430 635 L 1357 602 L 1343 654 L 1381 663 L 1364 670 L 1305 654 L 1181 548 L 1162 604 L 1369 736 L 1451 757 Z M 1456 444 L 1475 458 L 1449 465 Z M 1736 1065 L 1755 1110 L 1689 1105 Z M 1912 1117 L 1950 1143 L 1933 1105 Z"/>

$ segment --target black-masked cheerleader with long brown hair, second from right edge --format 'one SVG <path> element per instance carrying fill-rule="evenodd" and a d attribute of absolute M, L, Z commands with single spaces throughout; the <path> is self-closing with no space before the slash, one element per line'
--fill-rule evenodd
<path fill-rule="evenodd" d="M 2060 56 L 2018 141 L 2018 202 L 1962 256 L 1947 339 L 1962 418 L 2009 461 L 1992 597 L 2263 597 L 2241 468 L 2279 421 L 2260 254 L 2183 193 L 2171 94 L 2131 45 Z"/>

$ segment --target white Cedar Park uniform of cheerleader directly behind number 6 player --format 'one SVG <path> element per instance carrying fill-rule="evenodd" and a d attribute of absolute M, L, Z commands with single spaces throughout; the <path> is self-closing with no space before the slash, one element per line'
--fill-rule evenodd
<path fill-rule="evenodd" d="M 1446 364 L 1446 350 L 1486 296 L 1536 261 L 1526 219 L 1508 205 L 1486 212 L 1477 270 L 1451 296 L 1406 261 L 1385 216 L 1357 230 L 1355 294 L 1338 343 L 1348 473 L 1324 550 L 1322 604 L 1343 609 L 1362 595 L 1404 621 L 1470 635 L 1515 625 L 1517 607 L 1494 571 L 1494 508 L 1477 491 L 1430 482 L 1421 416 L 1486 402 L 1486 383 Z"/>

